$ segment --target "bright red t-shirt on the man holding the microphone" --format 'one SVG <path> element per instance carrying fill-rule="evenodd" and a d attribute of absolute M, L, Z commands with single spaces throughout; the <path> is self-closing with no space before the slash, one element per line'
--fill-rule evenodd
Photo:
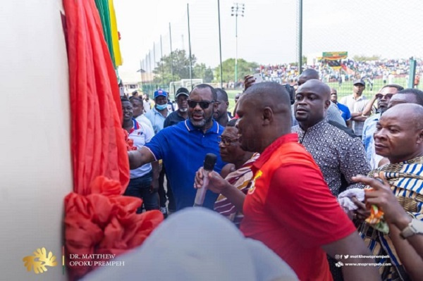
<path fill-rule="evenodd" d="M 269 246 L 300 280 L 332 280 L 321 245 L 355 232 L 297 134 L 268 146 L 252 166 L 240 230 Z"/>

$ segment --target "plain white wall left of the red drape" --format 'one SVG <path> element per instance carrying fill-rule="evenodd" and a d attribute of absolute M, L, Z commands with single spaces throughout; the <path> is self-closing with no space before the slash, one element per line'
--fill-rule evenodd
<path fill-rule="evenodd" d="M 61 0 L 0 8 L 0 280 L 66 280 L 63 198 L 72 190 L 68 61 Z M 39 247 L 58 266 L 28 273 Z"/>

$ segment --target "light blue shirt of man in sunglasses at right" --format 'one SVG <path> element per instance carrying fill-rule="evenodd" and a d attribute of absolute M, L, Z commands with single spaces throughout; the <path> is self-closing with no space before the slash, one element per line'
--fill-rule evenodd
<path fill-rule="evenodd" d="M 374 138 L 373 134 L 376 131 L 377 121 L 381 118 L 381 113 L 374 114 L 364 121 L 363 125 L 363 135 L 362 142 L 364 144 L 364 149 L 366 151 L 366 158 L 369 161 L 372 169 L 375 169 L 379 166 L 379 161 L 381 161 L 383 156 L 376 154 L 374 150 Z"/>

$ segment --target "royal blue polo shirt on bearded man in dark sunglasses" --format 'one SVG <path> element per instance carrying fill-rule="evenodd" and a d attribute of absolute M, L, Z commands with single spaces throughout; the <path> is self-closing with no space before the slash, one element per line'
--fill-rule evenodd
<path fill-rule="evenodd" d="M 194 205 L 197 192 L 194 189 L 195 172 L 203 166 L 206 154 L 216 154 L 217 162 L 214 170 L 217 173 L 220 173 L 226 165 L 220 157 L 218 143 L 218 137 L 223 129 L 224 127 L 213 120 L 213 126 L 204 134 L 188 119 L 171 127 L 165 127 L 145 144 L 156 160 L 163 160 L 175 196 L 176 210 Z M 213 209 L 218 195 L 208 190 L 203 206 Z"/>

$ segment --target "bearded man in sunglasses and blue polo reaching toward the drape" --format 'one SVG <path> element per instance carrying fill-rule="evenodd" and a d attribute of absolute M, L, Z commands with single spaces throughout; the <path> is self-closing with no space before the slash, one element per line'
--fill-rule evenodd
<path fill-rule="evenodd" d="M 164 128 L 142 149 L 128 152 L 131 169 L 163 159 L 177 211 L 194 204 L 195 172 L 203 165 L 206 154 L 216 154 L 217 173 L 226 164 L 219 154 L 218 139 L 224 128 L 213 119 L 216 99 L 213 87 L 197 85 L 188 99 L 188 120 Z M 216 198 L 217 194 L 208 191 L 204 207 L 213 209 Z"/>

